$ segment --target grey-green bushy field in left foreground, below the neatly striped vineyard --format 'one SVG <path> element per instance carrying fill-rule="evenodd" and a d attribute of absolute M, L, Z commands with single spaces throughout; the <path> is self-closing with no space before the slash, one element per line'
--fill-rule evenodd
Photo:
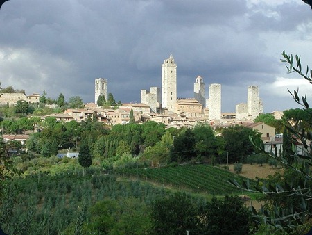
<path fill-rule="evenodd" d="M 146 206 L 156 197 L 168 195 L 162 188 L 139 181 L 116 181 L 113 175 L 15 179 L 6 184 L 5 193 L 0 209 L 1 228 L 8 234 L 38 235 L 76 234 L 78 230 L 87 229 L 82 226 L 94 217 L 89 210 L 96 202 L 112 201 L 115 205 L 112 229 L 121 224 L 127 226 L 121 212 L 124 216 L 135 211 L 144 215 L 141 210 L 148 209 Z M 125 213 L 123 208 L 129 206 L 135 209 Z"/>

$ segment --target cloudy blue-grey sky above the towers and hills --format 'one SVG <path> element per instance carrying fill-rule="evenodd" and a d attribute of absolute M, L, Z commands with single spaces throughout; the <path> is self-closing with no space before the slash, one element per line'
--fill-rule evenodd
<path fill-rule="evenodd" d="M 0 10 L 1 87 L 94 102 L 107 79 L 116 102 L 139 103 L 161 87 L 162 63 L 177 64 L 177 97 L 202 76 L 222 86 L 222 111 L 259 87 L 264 113 L 300 108 L 312 85 L 288 74 L 282 51 L 312 67 L 312 10 L 301 0 L 10 0 Z M 311 102 L 312 103 L 312 102 Z"/>

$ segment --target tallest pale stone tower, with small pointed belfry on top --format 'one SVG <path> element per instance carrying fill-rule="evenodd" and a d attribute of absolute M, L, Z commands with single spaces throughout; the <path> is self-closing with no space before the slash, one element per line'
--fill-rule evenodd
<path fill-rule="evenodd" d="M 177 101 L 177 65 L 173 56 L 162 64 L 162 108 L 167 108 L 168 112 L 174 112 Z"/>

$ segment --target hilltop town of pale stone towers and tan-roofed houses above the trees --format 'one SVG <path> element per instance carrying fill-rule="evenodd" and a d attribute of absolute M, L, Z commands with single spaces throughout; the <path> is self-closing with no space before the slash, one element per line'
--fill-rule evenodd
<path fill-rule="evenodd" d="M 94 103 L 87 103 L 84 108 L 69 108 L 63 113 L 49 116 L 59 121 L 69 122 L 86 120 L 88 116 L 96 118 L 107 126 L 130 122 L 133 112 L 135 122 L 149 120 L 161 122 L 167 127 L 194 127 L 198 122 L 209 122 L 211 125 L 230 125 L 241 122 L 252 122 L 263 113 L 263 104 L 259 99 L 259 88 L 248 86 L 247 103 L 236 105 L 235 113 L 221 112 L 221 84 L 209 85 L 209 99 L 205 100 L 205 83 L 197 76 L 193 84 L 193 97 L 177 97 L 177 64 L 172 55 L 162 64 L 162 88 L 150 87 L 141 90 L 140 103 L 123 103 L 119 106 L 98 106 L 98 98 L 107 100 L 107 79 L 95 79 Z M 19 100 L 28 104 L 40 103 L 40 94 L 1 93 L 0 105 L 15 105 Z M 281 112 L 272 113 L 279 119 Z"/>

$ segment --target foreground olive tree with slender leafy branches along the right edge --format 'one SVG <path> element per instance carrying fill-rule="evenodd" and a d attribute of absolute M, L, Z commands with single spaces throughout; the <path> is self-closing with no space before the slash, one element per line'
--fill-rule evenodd
<path fill-rule="evenodd" d="M 286 68 L 289 73 L 296 72 L 300 74 L 304 79 L 312 83 L 312 70 L 309 66 L 306 67 L 306 72 L 302 72 L 301 58 L 300 56 L 288 55 L 283 51 L 281 62 L 286 63 Z M 288 90 L 289 91 L 289 90 Z M 298 95 L 299 90 L 289 91 L 293 99 L 297 104 L 302 106 L 302 110 L 307 115 L 312 115 L 309 104 L 306 101 L 306 95 L 300 97 Z M 266 205 L 264 209 L 257 212 L 254 208 L 254 218 L 258 222 L 261 220 L 266 225 L 273 227 L 279 227 L 288 234 L 303 234 L 306 229 L 310 229 L 311 225 L 307 224 L 312 218 L 312 152 L 310 143 L 312 140 L 312 133 L 310 124 L 309 127 L 300 126 L 300 119 L 302 117 L 293 117 L 293 121 L 287 122 L 285 128 L 289 131 L 290 138 L 293 139 L 293 143 L 302 144 L 304 154 L 296 154 L 295 145 L 292 144 L 291 152 L 283 151 L 281 156 L 275 153 L 267 153 L 264 149 L 263 142 L 259 137 L 250 136 L 250 141 L 257 147 L 263 154 L 267 154 L 272 159 L 278 161 L 284 166 L 284 171 L 288 172 L 284 174 L 284 179 L 277 177 L 274 181 L 259 182 L 257 186 L 252 189 L 248 182 L 243 181 L 242 186 L 235 180 L 229 180 L 230 183 L 238 186 L 239 188 L 245 188 L 249 191 L 260 191 L 266 196 L 269 205 Z M 291 157 L 290 157 L 291 156 Z M 288 177 L 288 174 L 291 177 Z M 290 202 L 291 203 L 288 203 Z"/>

